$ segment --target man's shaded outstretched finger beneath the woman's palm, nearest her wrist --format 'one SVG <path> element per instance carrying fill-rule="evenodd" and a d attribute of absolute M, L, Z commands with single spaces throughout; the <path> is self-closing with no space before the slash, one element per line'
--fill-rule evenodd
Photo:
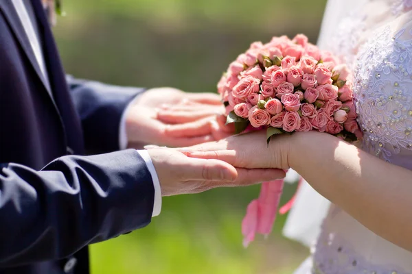
<path fill-rule="evenodd" d="M 212 188 L 251 186 L 266 181 L 282 179 L 286 173 L 282 169 L 236 169 L 238 177 L 233 182 L 211 182 Z"/>

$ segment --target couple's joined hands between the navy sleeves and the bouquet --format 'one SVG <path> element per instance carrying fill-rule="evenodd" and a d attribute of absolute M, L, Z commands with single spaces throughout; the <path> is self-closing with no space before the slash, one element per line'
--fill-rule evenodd
<path fill-rule="evenodd" d="M 268 146 L 264 131 L 234 136 L 224 112 L 216 94 L 174 88 L 147 90 L 130 106 L 128 147 L 148 149 L 163 196 L 285 176 L 289 138 L 280 136 Z"/>

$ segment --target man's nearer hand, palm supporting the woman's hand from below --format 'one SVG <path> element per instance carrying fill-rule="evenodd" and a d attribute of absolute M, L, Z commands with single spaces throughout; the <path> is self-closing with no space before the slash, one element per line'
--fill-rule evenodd
<path fill-rule="evenodd" d="M 188 158 L 175 149 L 148 149 L 148 153 L 159 177 L 162 196 L 249 186 L 285 176 L 278 169 L 236 169 L 220 160 Z"/>

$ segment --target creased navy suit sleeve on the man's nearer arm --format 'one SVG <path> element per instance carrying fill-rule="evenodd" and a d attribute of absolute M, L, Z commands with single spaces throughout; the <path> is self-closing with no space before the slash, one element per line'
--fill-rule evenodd
<path fill-rule="evenodd" d="M 0 267 L 57 260 L 150 223 L 155 190 L 134 149 L 0 164 Z"/>

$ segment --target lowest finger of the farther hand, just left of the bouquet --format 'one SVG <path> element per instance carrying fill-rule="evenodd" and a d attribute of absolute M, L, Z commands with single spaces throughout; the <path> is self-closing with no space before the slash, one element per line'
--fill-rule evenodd
<path fill-rule="evenodd" d="M 170 137 L 196 137 L 208 134 L 211 134 L 210 118 L 180 125 L 169 125 L 165 128 L 165 135 Z"/>

